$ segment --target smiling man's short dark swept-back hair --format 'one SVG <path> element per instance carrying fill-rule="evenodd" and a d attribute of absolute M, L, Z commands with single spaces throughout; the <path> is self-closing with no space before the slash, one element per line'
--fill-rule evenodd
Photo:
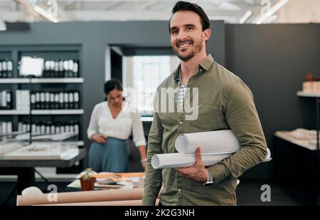
<path fill-rule="evenodd" d="M 203 11 L 201 6 L 198 6 L 197 4 L 187 2 L 187 1 L 178 1 L 174 8 L 172 9 L 172 15 L 174 15 L 178 11 L 193 11 L 200 17 L 201 25 L 202 25 L 202 31 L 210 28 L 210 20 L 208 16 L 206 15 L 206 12 Z M 169 20 L 169 32 L 170 32 L 170 22 L 171 22 L 172 16 Z"/>

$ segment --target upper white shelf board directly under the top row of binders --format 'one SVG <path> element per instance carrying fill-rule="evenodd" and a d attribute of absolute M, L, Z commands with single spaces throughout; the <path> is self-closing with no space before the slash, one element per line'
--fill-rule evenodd
<path fill-rule="evenodd" d="M 29 83 L 29 79 L 1 78 L 0 83 Z M 32 78 L 31 83 L 83 83 L 83 78 Z"/>

